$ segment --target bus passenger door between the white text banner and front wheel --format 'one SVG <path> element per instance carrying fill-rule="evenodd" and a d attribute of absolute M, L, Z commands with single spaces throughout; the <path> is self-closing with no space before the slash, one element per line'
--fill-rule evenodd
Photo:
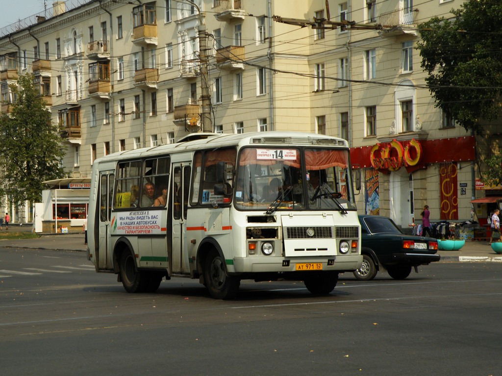
<path fill-rule="evenodd" d="M 172 264 L 173 273 L 189 273 L 188 253 L 186 244 L 186 219 L 188 206 L 188 190 L 190 182 L 190 165 L 173 163 L 173 174 L 170 195 L 172 205 Z"/>

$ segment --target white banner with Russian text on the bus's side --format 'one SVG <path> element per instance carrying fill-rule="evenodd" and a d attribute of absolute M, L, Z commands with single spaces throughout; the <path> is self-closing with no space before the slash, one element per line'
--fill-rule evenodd
<path fill-rule="evenodd" d="M 117 235 L 158 235 L 166 231 L 161 223 L 159 211 L 116 213 L 111 220 L 111 231 Z"/>

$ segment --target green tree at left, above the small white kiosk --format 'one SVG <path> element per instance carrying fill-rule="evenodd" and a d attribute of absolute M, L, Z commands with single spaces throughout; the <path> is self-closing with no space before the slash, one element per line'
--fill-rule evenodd
<path fill-rule="evenodd" d="M 60 160 L 65 148 L 33 75 L 20 76 L 11 90 L 12 111 L 0 116 L 0 194 L 15 203 L 40 202 L 46 188 L 42 182 L 64 176 Z"/>

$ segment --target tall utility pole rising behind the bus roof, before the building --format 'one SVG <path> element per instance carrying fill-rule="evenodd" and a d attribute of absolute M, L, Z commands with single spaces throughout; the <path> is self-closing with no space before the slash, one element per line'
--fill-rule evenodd
<path fill-rule="evenodd" d="M 204 21 L 204 14 L 200 11 L 197 4 L 190 0 L 186 0 L 190 5 L 193 5 L 197 9 L 199 17 L 199 63 L 200 63 L 200 88 L 201 88 L 201 101 L 202 101 L 202 131 L 212 132 L 213 124 L 211 121 L 211 106 L 209 101 L 209 58 L 207 56 L 207 32 L 206 23 Z"/>

